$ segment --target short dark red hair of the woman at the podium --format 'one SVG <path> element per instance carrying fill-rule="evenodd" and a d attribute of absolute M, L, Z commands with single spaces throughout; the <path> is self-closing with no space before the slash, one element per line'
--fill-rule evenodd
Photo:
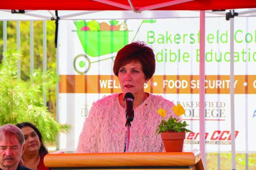
<path fill-rule="evenodd" d="M 142 41 L 132 42 L 117 52 L 113 71 L 118 77 L 119 69 L 130 62 L 140 62 L 146 79 L 155 73 L 156 60 L 153 50 Z"/>

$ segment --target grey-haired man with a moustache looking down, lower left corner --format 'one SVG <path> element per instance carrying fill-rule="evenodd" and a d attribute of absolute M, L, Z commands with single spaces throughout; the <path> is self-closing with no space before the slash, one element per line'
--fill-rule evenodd
<path fill-rule="evenodd" d="M 31 170 L 19 165 L 24 149 L 23 132 L 16 125 L 2 125 L 0 127 L 0 169 Z"/>

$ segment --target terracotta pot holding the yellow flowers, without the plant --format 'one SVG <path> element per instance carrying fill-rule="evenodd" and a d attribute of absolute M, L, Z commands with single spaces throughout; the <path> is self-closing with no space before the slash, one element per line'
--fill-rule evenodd
<path fill-rule="evenodd" d="M 165 152 L 182 152 L 185 132 L 162 132 Z"/>

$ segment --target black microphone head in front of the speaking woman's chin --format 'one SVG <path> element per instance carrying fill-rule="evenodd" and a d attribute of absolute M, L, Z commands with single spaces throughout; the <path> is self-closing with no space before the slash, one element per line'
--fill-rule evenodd
<path fill-rule="evenodd" d="M 127 126 L 127 124 L 130 125 L 130 122 L 132 122 L 134 119 L 133 94 L 130 92 L 126 93 L 124 95 L 123 101 L 124 101 L 124 106 L 126 107 L 126 126 Z"/>

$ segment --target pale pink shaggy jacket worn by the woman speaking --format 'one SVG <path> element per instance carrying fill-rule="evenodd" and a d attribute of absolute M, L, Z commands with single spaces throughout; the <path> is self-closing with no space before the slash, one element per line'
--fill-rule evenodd
<path fill-rule="evenodd" d="M 108 95 L 93 103 L 79 137 L 78 153 L 124 152 L 126 115 L 125 108 L 119 103 L 119 94 Z M 177 117 L 172 110 L 173 105 L 160 95 L 149 94 L 134 109 L 129 152 L 164 152 L 161 135 L 155 132 L 162 121 L 157 110 L 165 109 L 168 117 Z"/>

